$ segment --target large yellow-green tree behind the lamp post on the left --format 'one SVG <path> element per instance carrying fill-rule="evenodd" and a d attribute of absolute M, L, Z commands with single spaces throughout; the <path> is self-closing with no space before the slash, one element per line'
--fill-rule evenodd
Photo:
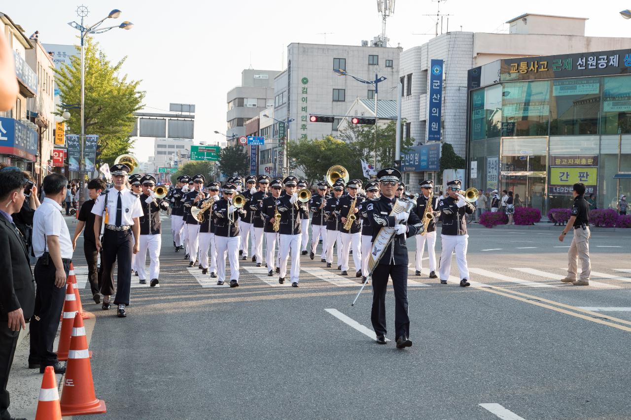
<path fill-rule="evenodd" d="M 79 49 L 80 47 L 76 47 Z M 127 81 L 119 76 L 127 57 L 110 64 L 98 43 L 85 38 L 85 133 L 98 134 L 99 159 L 112 165 L 116 156 L 128 153 L 133 142 L 129 134 L 134 128 L 133 113 L 143 105 L 144 91 L 138 90 L 140 81 Z M 81 60 L 79 54 L 71 57 L 56 73 L 62 103 L 81 102 Z M 63 112 L 63 111 L 62 111 Z M 69 132 L 81 132 L 79 109 L 69 110 Z M 60 113 L 57 113 L 61 115 Z"/>

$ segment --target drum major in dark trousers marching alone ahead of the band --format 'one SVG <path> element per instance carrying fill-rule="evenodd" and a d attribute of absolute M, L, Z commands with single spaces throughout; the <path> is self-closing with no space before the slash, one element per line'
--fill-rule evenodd
<path fill-rule="evenodd" d="M 396 236 L 384 251 L 379 264 L 372 272 L 372 327 L 377 334 L 377 342 L 386 344 L 386 286 L 388 277 L 394 288 L 394 328 L 396 347 L 410 347 L 410 317 L 408 317 L 408 247 L 406 237 L 423 231 L 421 220 L 416 213 L 401 212 L 389 216 L 396 202 L 395 192 L 401 172 L 395 168 L 385 168 L 377 173 L 381 182 L 382 195 L 379 200 L 371 200 L 367 205 L 370 223 L 374 223 L 373 242 L 382 227 L 396 228 Z"/>

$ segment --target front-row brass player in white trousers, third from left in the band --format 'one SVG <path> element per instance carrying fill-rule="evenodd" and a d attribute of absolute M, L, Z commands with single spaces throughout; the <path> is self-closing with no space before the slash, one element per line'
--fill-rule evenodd
<path fill-rule="evenodd" d="M 298 277 L 300 276 L 300 240 L 302 235 L 300 232 L 300 220 L 302 214 L 307 211 L 307 206 L 304 202 L 298 201 L 298 194 L 296 193 L 298 178 L 290 175 L 283 180 L 285 184 L 285 195 L 281 195 L 276 199 L 276 206 L 280 213 L 280 230 L 279 233 L 279 245 L 278 254 L 280 254 L 280 274 L 278 277 L 278 283 L 285 283 L 285 276 L 287 272 L 287 259 L 289 258 L 289 252 L 292 252 L 292 269 L 290 271 L 290 278 L 292 280 L 292 287 L 298 287 Z"/>

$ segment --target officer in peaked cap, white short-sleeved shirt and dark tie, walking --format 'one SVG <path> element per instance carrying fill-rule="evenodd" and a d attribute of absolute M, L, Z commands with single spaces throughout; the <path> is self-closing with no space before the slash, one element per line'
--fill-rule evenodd
<path fill-rule="evenodd" d="M 114 305 L 118 305 L 118 316 L 127 316 L 125 306 L 131 299 L 131 256 L 140 250 L 140 220 L 143 207 L 138 195 L 127 189 L 125 180 L 129 168 L 118 164 L 112 166 L 114 187 L 105 190 L 97 197 L 92 207 L 95 214 L 94 237 L 97 250 L 102 250 L 101 265 L 103 267 L 101 294 L 103 310 L 108 310 L 110 295 L 114 293 L 114 264 L 118 261 L 118 279 Z M 105 230 L 103 242 L 100 240 L 101 223 L 105 213 Z"/>

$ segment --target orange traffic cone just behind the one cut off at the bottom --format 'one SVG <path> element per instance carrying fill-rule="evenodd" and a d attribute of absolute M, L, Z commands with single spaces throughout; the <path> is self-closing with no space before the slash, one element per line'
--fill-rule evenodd
<path fill-rule="evenodd" d="M 61 414 L 78 416 L 105 411 L 105 401 L 97 399 L 94 394 L 88 341 L 85 338 L 83 319 L 77 314 L 74 317 L 73 337 L 66 364 L 66 380 L 61 392 Z"/>

